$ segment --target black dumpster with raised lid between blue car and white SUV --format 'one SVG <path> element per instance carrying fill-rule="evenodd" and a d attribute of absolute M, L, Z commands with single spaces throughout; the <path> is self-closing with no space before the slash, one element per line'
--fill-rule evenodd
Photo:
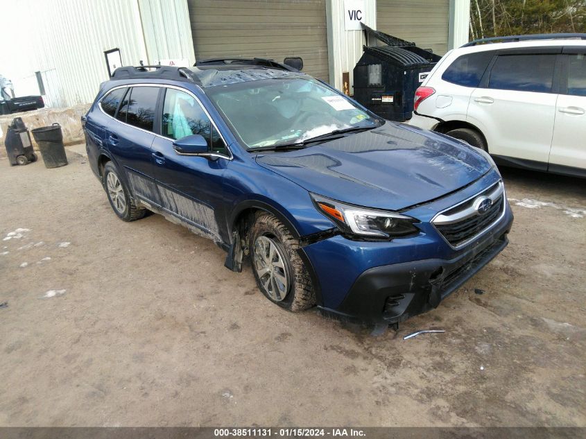
<path fill-rule="evenodd" d="M 411 119 L 415 90 L 441 57 L 414 42 L 362 26 L 367 41 L 379 40 L 384 45 L 363 47 L 354 67 L 354 99 L 385 119 Z"/>

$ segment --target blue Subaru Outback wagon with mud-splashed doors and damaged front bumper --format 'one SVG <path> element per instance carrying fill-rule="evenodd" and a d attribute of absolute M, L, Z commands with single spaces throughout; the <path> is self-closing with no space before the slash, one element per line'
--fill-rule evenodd
<path fill-rule="evenodd" d="M 119 218 L 152 211 L 213 239 L 289 311 L 396 324 L 508 243 L 488 153 L 277 62 L 121 67 L 82 122 Z"/>

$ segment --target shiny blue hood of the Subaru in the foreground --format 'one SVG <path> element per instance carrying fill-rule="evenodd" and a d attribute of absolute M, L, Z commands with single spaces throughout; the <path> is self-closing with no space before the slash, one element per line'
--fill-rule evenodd
<path fill-rule="evenodd" d="M 492 167 L 471 146 L 391 122 L 310 148 L 259 153 L 257 163 L 310 192 L 390 210 L 445 196 Z"/>

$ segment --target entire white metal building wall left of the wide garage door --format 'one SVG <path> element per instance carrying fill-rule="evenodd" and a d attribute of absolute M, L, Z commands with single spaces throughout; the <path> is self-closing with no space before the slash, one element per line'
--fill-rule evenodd
<path fill-rule="evenodd" d="M 119 48 L 125 65 L 194 61 L 193 47 L 190 53 L 184 44 L 192 41 L 187 0 L 19 0 L 10 14 L 12 23 L 34 29 L 15 39 L 10 62 L 26 71 L 23 77 L 42 72 L 51 106 L 92 102 L 108 78 L 109 49 Z"/>

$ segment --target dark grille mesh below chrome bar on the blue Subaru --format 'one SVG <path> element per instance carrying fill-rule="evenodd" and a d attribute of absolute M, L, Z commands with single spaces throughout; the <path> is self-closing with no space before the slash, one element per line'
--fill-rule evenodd
<path fill-rule="evenodd" d="M 469 216 L 461 221 L 450 224 L 436 224 L 436 229 L 444 236 L 452 246 L 458 247 L 480 234 L 501 215 L 504 208 L 504 193 L 499 196 L 492 206 L 483 215 Z"/>

